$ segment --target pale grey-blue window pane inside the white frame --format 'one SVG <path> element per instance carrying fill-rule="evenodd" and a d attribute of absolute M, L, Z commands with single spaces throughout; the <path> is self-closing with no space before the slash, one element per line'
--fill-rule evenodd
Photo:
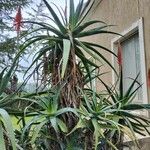
<path fill-rule="evenodd" d="M 134 34 L 127 40 L 121 43 L 123 49 L 123 77 L 124 77 L 124 92 L 127 91 L 137 74 L 140 73 L 140 50 L 139 50 L 139 37 L 138 34 Z M 141 74 L 138 78 L 138 82 L 141 83 Z M 134 89 L 137 88 L 137 84 Z M 140 103 L 142 100 L 142 90 L 138 90 L 137 96 L 134 102 Z"/>

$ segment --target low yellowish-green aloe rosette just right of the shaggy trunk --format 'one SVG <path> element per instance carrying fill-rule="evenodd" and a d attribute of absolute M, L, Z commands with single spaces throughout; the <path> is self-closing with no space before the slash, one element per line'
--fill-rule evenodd
<path fill-rule="evenodd" d="M 80 119 L 69 134 L 80 128 L 86 129 L 88 141 L 85 140 L 85 149 L 91 149 L 91 144 L 95 150 L 101 149 L 103 148 L 102 141 L 106 141 L 110 147 L 117 150 L 117 147 L 107 137 L 106 132 L 110 130 L 121 133 L 122 126 L 118 120 L 122 117 L 107 112 L 110 109 L 110 102 L 95 91 L 84 89 L 82 96 L 83 103 L 78 110 Z"/>

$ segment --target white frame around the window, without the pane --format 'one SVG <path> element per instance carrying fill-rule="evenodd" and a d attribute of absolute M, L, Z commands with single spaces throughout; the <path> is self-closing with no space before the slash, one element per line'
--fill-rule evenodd
<path fill-rule="evenodd" d="M 142 103 L 148 103 L 147 93 L 147 80 L 146 80 L 146 63 L 145 63 L 145 49 L 144 49 L 144 31 L 143 31 L 143 18 L 140 18 L 137 22 L 133 23 L 128 29 L 124 30 L 121 35 L 116 36 L 111 40 L 111 50 L 115 53 L 118 41 L 123 41 L 135 32 L 139 34 L 139 47 L 140 47 L 140 65 L 141 65 L 141 78 L 142 78 Z M 115 58 L 112 56 L 112 63 L 115 67 Z M 112 83 L 115 83 L 115 72 L 112 71 Z"/>

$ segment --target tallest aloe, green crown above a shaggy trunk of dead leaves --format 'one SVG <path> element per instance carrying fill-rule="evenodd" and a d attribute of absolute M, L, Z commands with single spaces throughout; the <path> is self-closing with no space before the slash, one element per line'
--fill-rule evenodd
<path fill-rule="evenodd" d="M 42 79 L 49 81 L 52 86 L 67 81 L 66 86 L 64 86 L 61 92 L 62 107 L 78 107 L 80 98 L 78 97 L 79 92 L 76 87 L 83 87 L 82 80 L 84 78 L 78 66 L 78 60 L 83 63 L 89 79 L 91 78 L 90 66 L 94 68 L 99 68 L 99 66 L 87 59 L 87 54 L 99 63 L 102 61 L 106 62 L 114 69 L 111 63 L 98 50 L 102 49 L 113 55 L 115 54 L 99 44 L 86 42 L 83 38 L 96 34 L 117 33 L 108 31 L 107 27 L 109 26 L 102 21 L 86 21 L 85 18 L 94 4 L 94 2 L 90 0 L 85 3 L 84 0 L 81 0 L 76 7 L 74 6 L 74 1 L 70 0 L 69 10 L 67 10 L 66 6 L 65 11 L 54 5 L 54 7 L 58 9 L 61 17 L 58 17 L 52 5 L 46 0 L 43 0 L 43 2 L 51 15 L 50 17 L 48 16 L 47 19 L 49 18 L 55 25 L 52 26 L 46 22 L 24 21 L 24 23 L 38 25 L 38 28 L 32 31 L 31 34 L 37 31 L 40 34 L 32 36 L 25 41 L 21 46 L 20 53 L 24 52 L 26 48 L 32 46 L 34 43 L 39 43 L 39 45 L 42 43 L 29 69 L 35 64 L 37 64 L 35 70 L 38 70 L 40 67 L 43 68 Z M 97 26 L 99 25 L 99 27 L 92 26 L 96 24 Z M 91 26 L 92 28 L 89 28 Z M 43 34 L 44 31 L 46 31 L 47 34 Z M 80 40 L 80 38 L 82 38 L 82 40 Z M 41 59 L 41 61 L 38 61 L 39 59 Z M 63 102 L 64 99 L 65 102 Z"/>

